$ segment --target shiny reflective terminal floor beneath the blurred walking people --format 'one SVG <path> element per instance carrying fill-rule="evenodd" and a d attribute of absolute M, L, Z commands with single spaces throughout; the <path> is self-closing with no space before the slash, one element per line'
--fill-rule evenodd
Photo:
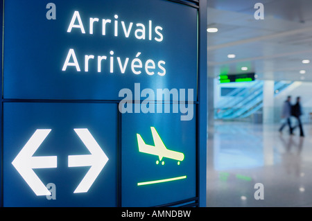
<path fill-rule="evenodd" d="M 207 206 L 312 206 L 312 125 L 215 122 L 208 128 Z M 254 185 L 263 184 L 263 200 Z"/>

